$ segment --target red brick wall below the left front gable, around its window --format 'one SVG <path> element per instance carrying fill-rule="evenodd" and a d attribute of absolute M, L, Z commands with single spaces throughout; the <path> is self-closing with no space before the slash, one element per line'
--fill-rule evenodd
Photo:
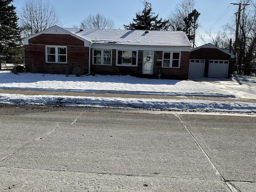
<path fill-rule="evenodd" d="M 89 48 L 84 42 L 71 35 L 41 34 L 28 41 L 25 45 L 26 71 L 32 72 L 32 65 L 38 73 L 72 74 L 74 66 L 88 73 Z M 45 46 L 67 46 L 67 64 L 46 63 Z"/>

